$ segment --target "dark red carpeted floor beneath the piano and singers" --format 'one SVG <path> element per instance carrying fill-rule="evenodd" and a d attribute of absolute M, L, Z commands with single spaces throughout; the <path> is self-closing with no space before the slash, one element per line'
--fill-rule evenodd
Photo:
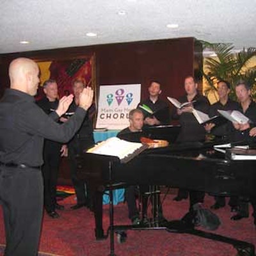
<path fill-rule="evenodd" d="M 168 220 L 181 218 L 188 210 L 188 200 L 173 202 L 173 196 L 168 194 L 163 204 L 164 216 Z M 65 205 L 65 210 L 59 211 L 61 215 L 59 219 L 53 220 L 45 214 L 40 240 L 40 256 L 109 255 L 109 238 L 104 241 L 95 241 L 92 212 L 85 207 L 76 211 L 70 210 L 70 206 L 76 204 L 75 199 L 74 195 L 70 195 L 60 202 Z M 212 203 L 213 198 L 206 196 L 205 205 L 209 206 Z M 214 233 L 247 241 L 256 246 L 256 229 L 251 216 L 240 221 L 231 221 L 228 206 L 215 212 L 220 217 L 221 226 Z M 251 208 L 250 213 L 252 213 Z M 3 255 L 2 211 L 0 211 L 0 218 L 0 255 Z M 115 206 L 115 223 L 129 224 L 125 204 Z M 108 205 L 104 205 L 104 228 L 107 227 Z M 125 243 L 115 243 L 115 253 L 118 256 L 235 256 L 237 251 L 229 244 L 189 234 L 174 234 L 164 230 L 129 230 Z"/>

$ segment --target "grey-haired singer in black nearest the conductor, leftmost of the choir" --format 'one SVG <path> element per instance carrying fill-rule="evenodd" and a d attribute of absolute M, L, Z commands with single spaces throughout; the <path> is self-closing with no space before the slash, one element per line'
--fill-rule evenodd
<path fill-rule="evenodd" d="M 43 84 L 45 97 L 36 102 L 44 112 L 49 115 L 58 108 L 58 85 L 55 80 L 48 79 Z M 44 164 L 42 173 L 44 178 L 44 207 L 51 218 L 59 218 L 56 209 L 63 210 L 64 206 L 56 202 L 56 186 L 60 161 L 65 153 L 66 145 L 61 145 L 56 141 L 44 141 Z"/>

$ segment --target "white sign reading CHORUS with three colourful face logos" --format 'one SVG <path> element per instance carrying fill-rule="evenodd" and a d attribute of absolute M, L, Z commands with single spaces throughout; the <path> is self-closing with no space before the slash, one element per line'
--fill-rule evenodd
<path fill-rule="evenodd" d="M 124 129 L 128 114 L 140 103 L 141 84 L 100 86 L 96 128 Z"/>

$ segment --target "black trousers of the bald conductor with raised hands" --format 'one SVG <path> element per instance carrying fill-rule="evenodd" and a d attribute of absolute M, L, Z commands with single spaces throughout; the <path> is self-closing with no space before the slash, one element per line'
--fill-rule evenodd
<path fill-rule="evenodd" d="M 43 213 L 41 170 L 0 166 L 0 203 L 3 206 L 4 256 L 36 256 Z"/>

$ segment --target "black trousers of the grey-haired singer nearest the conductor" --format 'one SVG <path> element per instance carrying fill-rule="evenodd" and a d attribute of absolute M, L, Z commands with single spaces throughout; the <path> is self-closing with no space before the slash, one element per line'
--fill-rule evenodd
<path fill-rule="evenodd" d="M 44 207 L 47 212 L 55 211 L 56 207 L 56 186 L 61 160 L 60 148 L 44 150 L 42 173 L 44 177 Z"/>

